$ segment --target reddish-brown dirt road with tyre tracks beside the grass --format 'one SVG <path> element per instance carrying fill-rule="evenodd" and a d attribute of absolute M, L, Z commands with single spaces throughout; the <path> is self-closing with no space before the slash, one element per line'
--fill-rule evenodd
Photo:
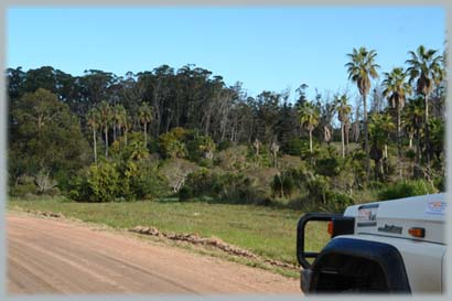
<path fill-rule="evenodd" d="M 9 293 L 295 293 L 279 275 L 61 219 L 7 216 Z"/>

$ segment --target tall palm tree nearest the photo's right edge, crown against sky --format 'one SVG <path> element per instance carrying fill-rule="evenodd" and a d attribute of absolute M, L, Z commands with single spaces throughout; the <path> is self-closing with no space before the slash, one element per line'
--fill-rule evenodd
<path fill-rule="evenodd" d="M 437 50 L 427 50 L 420 45 L 416 52 L 410 51 L 410 60 L 407 60 L 409 67 L 409 83 L 416 80 L 416 92 L 423 96 L 424 104 L 424 132 L 426 132 L 426 155 L 427 164 L 430 165 L 430 135 L 429 135 L 429 95 L 434 85 L 439 85 L 445 78 L 445 71 L 442 67 L 443 57 L 437 55 Z"/>

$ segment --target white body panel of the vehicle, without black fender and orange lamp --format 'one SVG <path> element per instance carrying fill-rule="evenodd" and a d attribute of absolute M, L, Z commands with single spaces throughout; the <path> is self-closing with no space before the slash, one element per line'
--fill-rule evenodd
<path fill-rule="evenodd" d="M 337 236 L 396 247 L 403 258 L 412 292 L 444 291 L 445 194 L 431 194 L 355 205 L 344 216 L 355 217 L 355 234 Z M 423 228 L 413 237 L 410 228 Z"/>

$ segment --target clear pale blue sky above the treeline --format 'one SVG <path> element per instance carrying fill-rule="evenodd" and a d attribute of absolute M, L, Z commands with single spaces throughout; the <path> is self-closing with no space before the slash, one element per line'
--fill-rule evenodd
<path fill-rule="evenodd" d="M 420 44 L 442 51 L 444 35 L 439 7 L 18 7 L 7 11 L 7 66 L 125 75 L 195 64 L 251 96 L 305 83 L 312 97 L 356 93 L 344 67 L 353 47 L 375 49 L 388 72 Z"/>

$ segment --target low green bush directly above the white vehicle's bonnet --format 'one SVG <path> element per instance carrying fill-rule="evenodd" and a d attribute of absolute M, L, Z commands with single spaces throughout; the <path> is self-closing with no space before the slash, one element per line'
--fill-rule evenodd
<path fill-rule="evenodd" d="M 435 192 L 435 187 L 424 180 L 403 180 L 378 192 L 378 197 L 380 200 L 395 200 Z"/>

